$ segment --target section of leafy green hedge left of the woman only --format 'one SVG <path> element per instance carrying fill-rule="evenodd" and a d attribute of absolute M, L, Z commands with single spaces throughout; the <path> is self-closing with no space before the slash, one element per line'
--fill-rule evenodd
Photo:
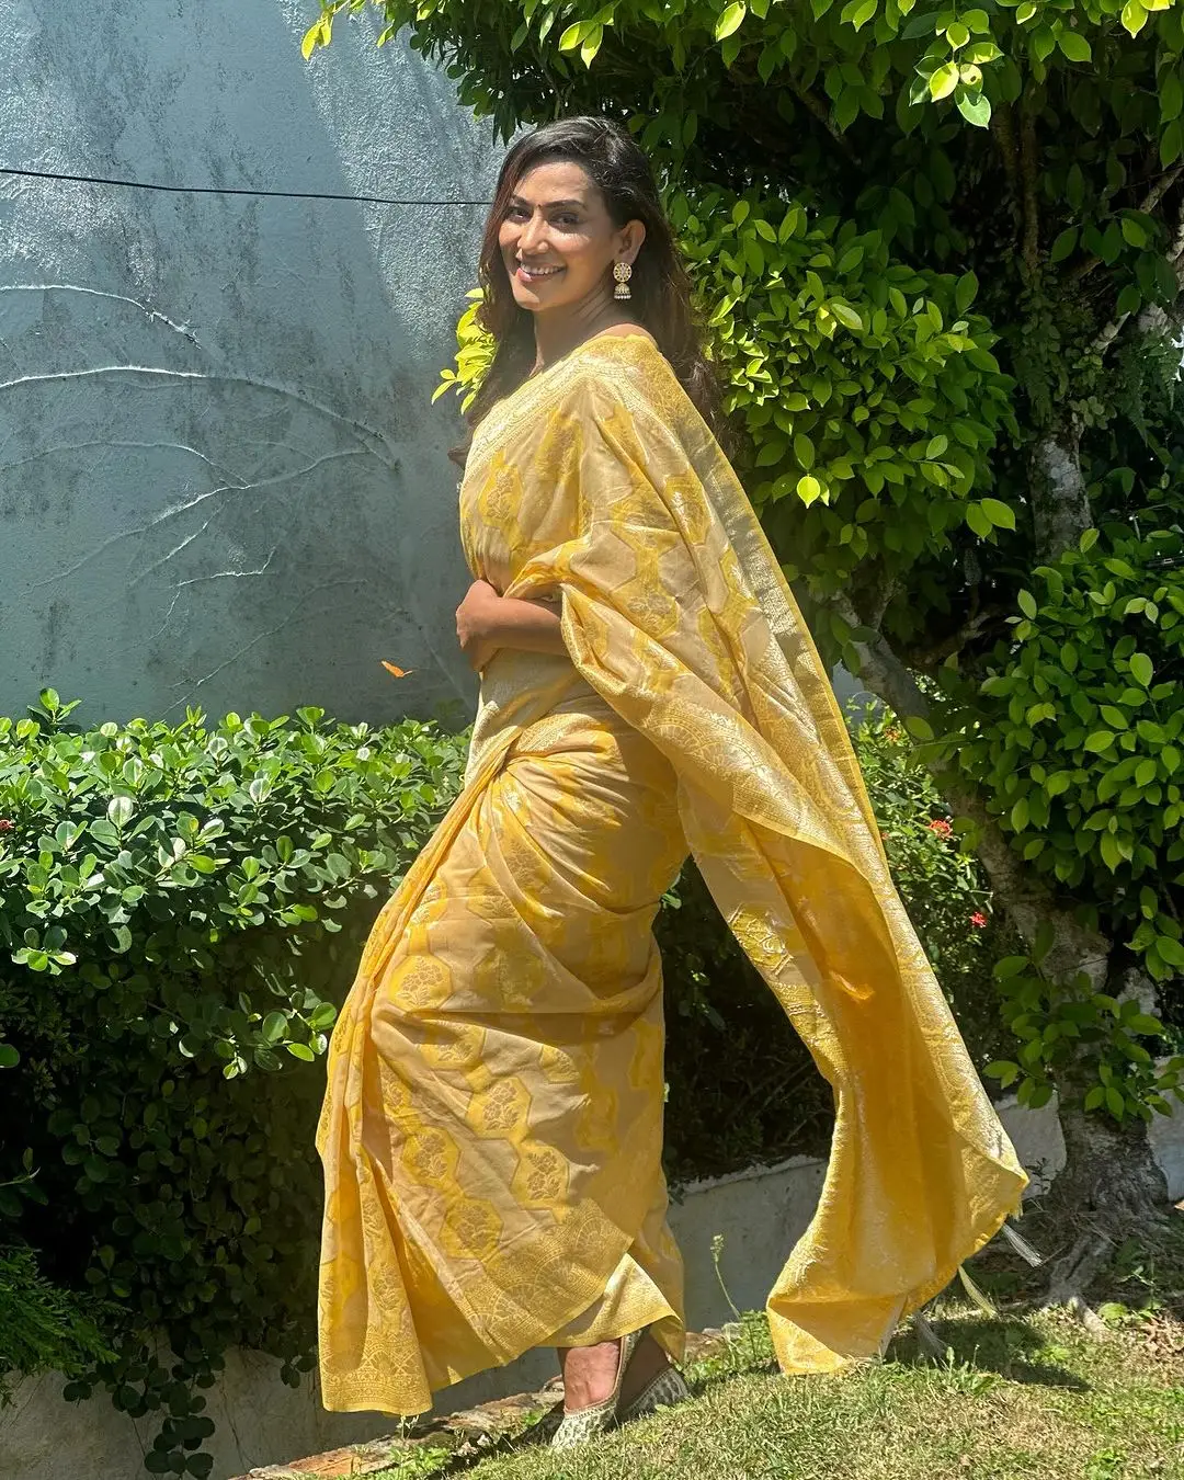
<path fill-rule="evenodd" d="M 163 1410 L 148 1470 L 204 1476 L 222 1353 L 311 1366 L 309 1063 L 465 744 L 317 709 L 77 731 L 71 707 L 0 719 L 0 1220 L 107 1302 L 114 1354 L 67 1394 Z"/>

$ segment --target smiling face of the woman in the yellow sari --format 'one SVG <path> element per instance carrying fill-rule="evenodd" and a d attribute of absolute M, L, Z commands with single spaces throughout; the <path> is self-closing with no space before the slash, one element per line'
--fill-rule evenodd
<path fill-rule="evenodd" d="M 602 308 L 613 263 L 632 263 L 644 238 L 639 221 L 614 226 L 591 176 L 562 160 L 518 181 L 499 228 L 515 302 L 531 314 Z"/>

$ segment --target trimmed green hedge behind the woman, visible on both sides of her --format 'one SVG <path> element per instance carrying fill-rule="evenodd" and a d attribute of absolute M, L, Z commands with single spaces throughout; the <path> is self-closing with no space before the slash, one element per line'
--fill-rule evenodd
<path fill-rule="evenodd" d="M 200 1477 L 223 1353 L 272 1353 L 293 1382 L 312 1363 L 318 1060 L 466 737 L 317 709 L 81 730 L 73 707 L 47 691 L 34 718 L 0 718 L 0 1119 L 21 1128 L 0 1151 L 0 1245 L 89 1302 L 67 1396 L 105 1385 L 129 1415 L 158 1412 L 148 1470 Z M 855 737 L 986 1061 L 996 952 L 975 866 L 891 721 Z M 672 1178 L 823 1150 L 829 1091 L 693 869 L 659 935 Z M 0 1368 L 22 1350 L 0 1338 Z"/>

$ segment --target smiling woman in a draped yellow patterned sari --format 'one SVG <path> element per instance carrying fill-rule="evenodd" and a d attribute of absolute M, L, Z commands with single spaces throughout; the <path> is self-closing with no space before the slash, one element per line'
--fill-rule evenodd
<path fill-rule="evenodd" d="M 332 1409 L 417 1413 L 555 1345 L 567 1446 L 685 1391 L 651 924 L 688 851 L 835 1088 L 821 1200 L 768 1302 L 784 1370 L 881 1351 L 1026 1178 L 712 435 L 632 139 L 573 118 L 515 144 L 481 278 L 497 351 L 457 611 L 481 706 L 333 1036 L 321 1381 Z"/>

